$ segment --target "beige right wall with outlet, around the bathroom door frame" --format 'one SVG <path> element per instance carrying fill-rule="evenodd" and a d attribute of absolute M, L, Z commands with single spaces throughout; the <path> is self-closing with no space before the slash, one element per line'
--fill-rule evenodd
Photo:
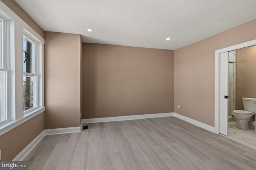
<path fill-rule="evenodd" d="M 214 126 L 214 51 L 256 39 L 255 30 L 252 20 L 174 50 L 174 112 Z"/>

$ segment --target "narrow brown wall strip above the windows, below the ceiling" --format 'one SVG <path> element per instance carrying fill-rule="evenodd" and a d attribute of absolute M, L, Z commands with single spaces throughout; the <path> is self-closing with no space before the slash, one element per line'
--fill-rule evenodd
<path fill-rule="evenodd" d="M 15 14 L 17 14 L 23 21 L 32 27 L 41 37 L 44 37 L 44 30 L 14 1 L 1 0 L 8 6 Z"/>

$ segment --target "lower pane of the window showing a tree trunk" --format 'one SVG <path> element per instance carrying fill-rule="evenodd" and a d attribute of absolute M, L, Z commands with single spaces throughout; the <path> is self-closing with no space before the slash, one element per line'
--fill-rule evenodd
<path fill-rule="evenodd" d="M 36 76 L 23 76 L 24 111 L 36 107 Z"/>

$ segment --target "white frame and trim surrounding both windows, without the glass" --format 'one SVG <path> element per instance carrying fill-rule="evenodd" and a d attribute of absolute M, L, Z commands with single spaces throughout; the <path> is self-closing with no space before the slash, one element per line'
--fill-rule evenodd
<path fill-rule="evenodd" d="M 17 16 L 8 6 L 0 1 L 0 14 L 9 20 L 8 37 L 8 76 L 7 76 L 7 114 L 8 121 L 0 123 L 0 136 L 45 111 L 44 107 L 44 38 L 25 21 Z M 37 107 L 24 114 L 23 107 L 23 35 L 37 43 L 38 77 Z"/>

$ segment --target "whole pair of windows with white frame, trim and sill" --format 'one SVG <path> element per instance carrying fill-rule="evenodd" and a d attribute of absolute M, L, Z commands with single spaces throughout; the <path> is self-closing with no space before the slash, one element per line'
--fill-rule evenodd
<path fill-rule="evenodd" d="M 44 110 L 44 38 L 0 0 L 0 136 Z"/>

